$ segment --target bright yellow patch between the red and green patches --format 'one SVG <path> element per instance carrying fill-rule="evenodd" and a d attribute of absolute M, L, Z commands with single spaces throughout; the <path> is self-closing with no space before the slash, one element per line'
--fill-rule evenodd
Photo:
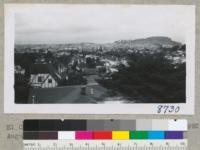
<path fill-rule="evenodd" d="M 129 140 L 129 131 L 112 131 L 113 140 Z"/>

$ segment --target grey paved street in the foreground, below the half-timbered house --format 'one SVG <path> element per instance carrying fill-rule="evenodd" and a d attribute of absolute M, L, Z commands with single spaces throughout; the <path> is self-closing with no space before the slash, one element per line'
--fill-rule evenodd
<path fill-rule="evenodd" d="M 108 96 L 108 90 L 100 86 L 96 78 L 97 75 L 86 76 L 87 85 L 34 89 L 30 93 L 29 103 L 97 103 Z M 81 93 L 82 87 L 86 87 L 85 94 Z"/>

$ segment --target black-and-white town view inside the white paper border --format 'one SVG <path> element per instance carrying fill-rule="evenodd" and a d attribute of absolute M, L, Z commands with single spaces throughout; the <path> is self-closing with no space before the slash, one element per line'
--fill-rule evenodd
<path fill-rule="evenodd" d="M 16 9 L 14 103 L 186 104 L 193 10 L 103 4 Z"/>

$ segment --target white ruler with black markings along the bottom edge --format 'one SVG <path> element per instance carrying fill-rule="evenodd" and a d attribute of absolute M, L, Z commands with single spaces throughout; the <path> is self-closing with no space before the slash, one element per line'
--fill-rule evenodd
<path fill-rule="evenodd" d="M 187 150 L 187 140 L 24 140 L 24 150 Z"/>

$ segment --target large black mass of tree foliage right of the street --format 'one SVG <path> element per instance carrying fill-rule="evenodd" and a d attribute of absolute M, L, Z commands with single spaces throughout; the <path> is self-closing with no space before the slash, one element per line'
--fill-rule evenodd
<path fill-rule="evenodd" d="M 185 63 L 174 64 L 163 52 L 134 53 L 129 56 L 129 67 L 119 66 L 112 79 L 100 83 L 137 102 L 184 102 L 185 70 Z"/>

